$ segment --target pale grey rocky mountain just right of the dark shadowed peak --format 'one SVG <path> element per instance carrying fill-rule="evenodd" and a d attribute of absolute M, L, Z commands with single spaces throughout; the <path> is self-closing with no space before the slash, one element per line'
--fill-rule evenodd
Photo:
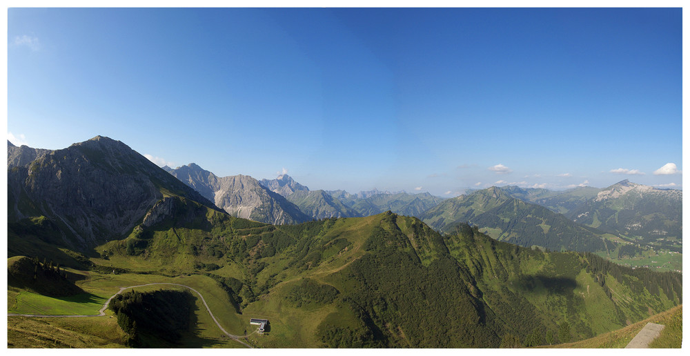
<path fill-rule="evenodd" d="M 295 204 L 248 175 L 217 177 L 196 164 L 175 168 L 170 174 L 234 217 L 278 225 L 311 220 Z"/>

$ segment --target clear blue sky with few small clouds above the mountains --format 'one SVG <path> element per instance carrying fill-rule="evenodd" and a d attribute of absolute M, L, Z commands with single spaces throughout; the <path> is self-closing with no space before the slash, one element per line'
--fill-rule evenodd
<path fill-rule="evenodd" d="M 682 12 L 8 10 L 10 141 L 96 135 L 311 189 L 680 188 Z"/>

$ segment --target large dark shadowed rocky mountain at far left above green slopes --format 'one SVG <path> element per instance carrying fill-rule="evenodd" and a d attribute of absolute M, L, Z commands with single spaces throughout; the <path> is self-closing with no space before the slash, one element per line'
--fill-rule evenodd
<path fill-rule="evenodd" d="M 8 145 L 9 146 L 9 145 Z M 97 136 L 55 151 L 8 148 L 8 220 L 45 216 L 83 250 L 120 238 L 166 195 L 213 204 L 120 141 Z M 26 162 L 32 155 L 32 161 Z"/>

